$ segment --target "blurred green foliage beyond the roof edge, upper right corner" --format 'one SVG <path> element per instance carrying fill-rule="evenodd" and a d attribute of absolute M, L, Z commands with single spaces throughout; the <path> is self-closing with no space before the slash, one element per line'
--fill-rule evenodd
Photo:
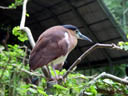
<path fill-rule="evenodd" d="M 128 1 L 127 0 L 103 0 L 117 23 L 128 33 Z"/>

